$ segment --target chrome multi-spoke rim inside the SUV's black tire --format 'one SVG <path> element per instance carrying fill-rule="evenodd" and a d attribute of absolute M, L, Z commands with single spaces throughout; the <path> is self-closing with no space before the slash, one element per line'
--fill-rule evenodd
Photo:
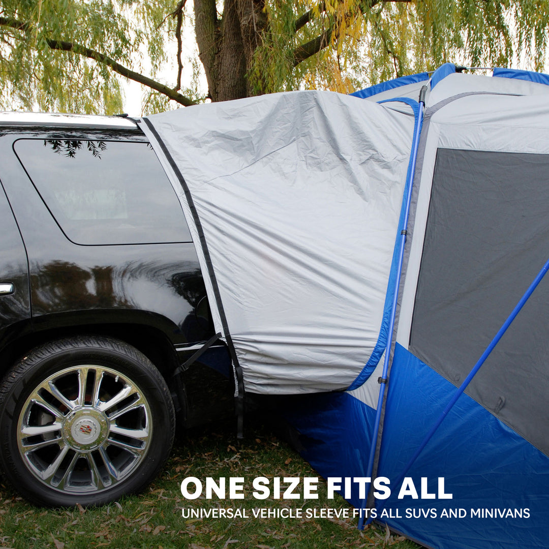
<path fill-rule="evenodd" d="M 152 437 L 143 391 L 115 369 L 78 365 L 43 380 L 18 422 L 26 468 L 57 491 L 111 488 L 141 464 Z"/>

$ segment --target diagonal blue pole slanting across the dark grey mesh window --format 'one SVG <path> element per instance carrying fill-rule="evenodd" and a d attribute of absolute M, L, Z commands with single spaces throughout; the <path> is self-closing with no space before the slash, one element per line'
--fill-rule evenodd
<path fill-rule="evenodd" d="M 429 433 L 425 436 L 422 443 L 419 445 L 418 449 L 416 450 L 416 453 L 412 456 L 410 461 L 406 464 L 406 467 L 402 471 L 402 473 L 399 475 L 399 478 L 395 481 L 395 485 L 399 485 L 404 479 L 406 473 L 412 467 L 413 462 L 416 461 L 417 457 L 421 453 L 421 451 L 424 449 L 425 445 L 427 445 L 427 442 L 429 442 L 430 438 L 434 435 L 436 429 L 439 428 L 439 425 L 444 421 L 444 418 L 450 412 L 452 409 L 452 406 L 456 404 L 457 399 L 462 395 L 463 391 L 467 388 L 467 385 L 469 385 L 470 381 L 474 378 L 475 374 L 479 371 L 480 367 L 484 364 L 486 361 L 486 358 L 490 355 L 492 350 L 494 350 L 495 346 L 497 345 L 498 341 L 502 338 L 503 334 L 505 334 L 507 328 L 511 325 L 515 317 L 518 315 L 520 309 L 524 306 L 526 301 L 530 298 L 534 290 L 536 289 L 537 285 L 541 282 L 541 279 L 545 276 L 547 271 L 549 270 L 549 259 L 546 261 L 545 265 L 541 267 L 541 270 L 539 273 L 537 273 L 536 278 L 534 278 L 534 281 L 530 284 L 522 298 L 520 298 L 520 301 L 517 303 L 511 314 L 507 317 L 507 320 L 503 323 L 503 326 L 499 329 L 497 334 L 494 336 L 494 339 L 490 342 L 490 345 L 486 347 L 486 350 L 483 352 L 477 363 L 473 366 L 473 369 L 469 372 L 469 375 L 463 380 L 463 383 L 461 384 L 460 388 L 456 391 L 456 393 L 453 395 L 450 402 L 446 405 L 442 413 L 440 414 L 439 418 L 436 420 L 433 427 L 430 429 Z"/>

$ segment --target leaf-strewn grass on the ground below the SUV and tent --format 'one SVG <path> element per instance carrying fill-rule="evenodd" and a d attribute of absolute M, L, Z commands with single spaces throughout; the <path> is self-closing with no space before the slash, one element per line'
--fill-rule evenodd
<path fill-rule="evenodd" d="M 144 494 L 126 497 L 99 508 L 36 508 L 5 485 L 0 486 L 0 546 L 14 549 L 91 549 L 111 545 L 118 549 L 324 549 L 325 547 L 418 546 L 377 526 L 356 529 L 347 518 L 219 518 L 186 519 L 182 508 L 212 507 L 251 509 L 350 508 L 343 498 L 326 500 L 318 486 L 318 500 L 255 500 L 248 491 L 244 500 L 186 500 L 180 484 L 186 477 L 253 478 L 316 477 L 311 466 L 265 427 L 248 429 L 237 445 L 232 426 L 221 426 L 176 440 L 167 466 Z M 324 498 L 323 498 L 324 497 Z M 305 501 L 305 504 L 303 503 Z M 304 513 L 305 515 L 305 513 Z"/>

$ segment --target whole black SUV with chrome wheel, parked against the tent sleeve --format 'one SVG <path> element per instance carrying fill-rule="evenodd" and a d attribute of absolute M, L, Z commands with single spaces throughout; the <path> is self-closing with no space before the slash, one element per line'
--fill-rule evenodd
<path fill-rule="evenodd" d="M 177 195 L 120 117 L 0 114 L 0 465 L 40 505 L 142 489 L 232 376 Z M 214 337 L 215 339 L 215 337 Z"/>

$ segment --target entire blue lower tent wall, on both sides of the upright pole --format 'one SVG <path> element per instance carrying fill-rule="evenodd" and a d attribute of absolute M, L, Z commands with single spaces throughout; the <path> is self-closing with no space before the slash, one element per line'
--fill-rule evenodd
<path fill-rule="evenodd" d="M 396 479 L 455 386 L 399 344 L 391 378 L 377 477 Z M 348 393 L 299 400 L 284 406 L 284 416 L 301 435 L 302 457 L 326 478 L 364 477 L 375 410 Z M 469 396 L 460 397 L 407 476 L 420 495 L 419 479 L 428 478 L 429 492 L 437 492 L 443 477 L 453 497 L 399 499 L 400 486 L 391 485 L 391 496 L 376 500 L 376 522 L 438 549 L 516 549 L 509 529 L 520 533 L 520 547 L 547 547 L 549 458 Z M 357 490 L 348 500 L 362 506 Z M 486 519 L 494 509 L 511 509 L 516 518 Z M 450 510 L 466 516 L 446 517 Z"/>

